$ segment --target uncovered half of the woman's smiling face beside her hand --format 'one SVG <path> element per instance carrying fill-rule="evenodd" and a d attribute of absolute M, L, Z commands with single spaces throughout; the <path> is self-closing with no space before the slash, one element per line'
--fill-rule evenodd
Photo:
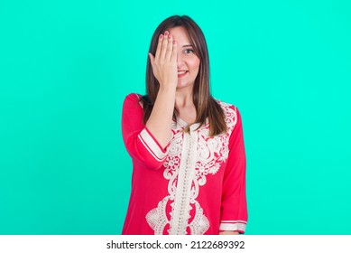
<path fill-rule="evenodd" d="M 177 69 L 178 85 L 177 89 L 192 89 L 194 81 L 199 73 L 199 57 L 194 53 L 194 49 L 189 42 L 185 28 L 178 26 L 169 30 L 174 40 L 177 42 Z"/>

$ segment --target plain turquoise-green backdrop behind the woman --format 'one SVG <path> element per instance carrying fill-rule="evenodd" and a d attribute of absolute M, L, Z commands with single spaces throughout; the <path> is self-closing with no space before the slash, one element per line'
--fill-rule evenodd
<path fill-rule="evenodd" d="M 122 103 L 152 33 L 188 14 L 241 111 L 247 234 L 351 234 L 349 1 L 2 1 L 0 234 L 119 234 Z"/>

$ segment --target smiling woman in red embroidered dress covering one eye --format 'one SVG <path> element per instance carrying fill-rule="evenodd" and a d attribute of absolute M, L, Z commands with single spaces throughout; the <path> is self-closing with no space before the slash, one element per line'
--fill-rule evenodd
<path fill-rule="evenodd" d="M 208 48 L 189 16 L 153 33 L 147 95 L 125 98 L 134 171 L 123 234 L 245 232 L 245 147 L 236 107 L 209 93 Z"/>

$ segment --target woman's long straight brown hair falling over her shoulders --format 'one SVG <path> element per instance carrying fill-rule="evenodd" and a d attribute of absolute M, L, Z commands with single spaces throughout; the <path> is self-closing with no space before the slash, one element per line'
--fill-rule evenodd
<path fill-rule="evenodd" d="M 165 19 L 162 23 L 160 23 L 152 35 L 152 42 L 150 44 L 149 52 L 155 55 L 160 34 L 163 34 L 165 31 L 178 26 L 185 28 L 189 37 L 189 42 L 200 60 L 199 74 L 195 79 L 193 87 L 193 103 L 197 112 L 195 123 L 200 123 L 200 126 L 205 125 L 208 117 L 209 136 L 217 136 L 226 132 L 226 120 L 223 109 L 209 92 L 208 45 L 204 34 L 199 28 L 199 25 L 187 15 L 173 15 Z M 153 104 L 156 100 L 159 89 L 160 84 L 153 75 L 152 65 L 150 59 L 148 58 L 146 66 L 147 94 L 141 98 L 141 101 L 143 102 L 144 124 L 146 124 L 152 113 Z M 176 118 L 176 111 L 177 109 L 174 108 L 174 119 Z"/>

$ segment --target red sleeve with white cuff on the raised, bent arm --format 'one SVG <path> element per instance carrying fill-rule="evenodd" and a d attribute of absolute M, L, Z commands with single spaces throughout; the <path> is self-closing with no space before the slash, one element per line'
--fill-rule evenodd
<path fill-rule="evenodd" d="M 157 142 L 152 133 L 143 125 L 143 108 L 137 94 L 125 97 L 122 112 L 122 136 L 125 148 L 134 163 L 141 163 L 151 169 L 159 169 L 167 155 L 167 147 Z"/>

